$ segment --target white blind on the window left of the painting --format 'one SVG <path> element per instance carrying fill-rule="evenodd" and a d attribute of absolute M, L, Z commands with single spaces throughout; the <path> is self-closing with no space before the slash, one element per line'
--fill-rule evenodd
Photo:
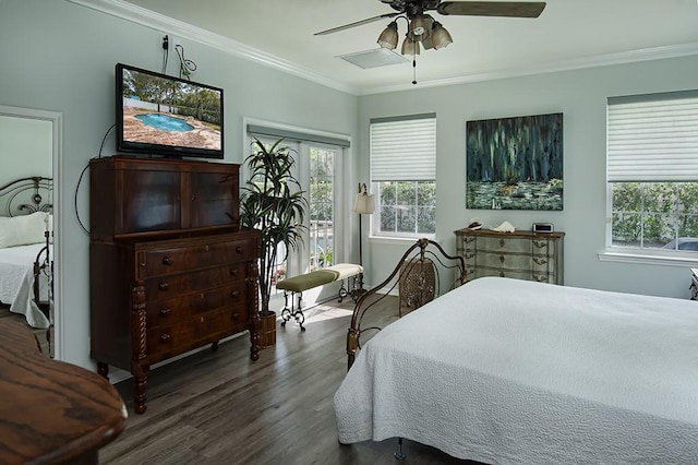
<path fill-rule="evenodd" d="M 436 114 L 371 120 L 371 181 L 436 179 Z"/>

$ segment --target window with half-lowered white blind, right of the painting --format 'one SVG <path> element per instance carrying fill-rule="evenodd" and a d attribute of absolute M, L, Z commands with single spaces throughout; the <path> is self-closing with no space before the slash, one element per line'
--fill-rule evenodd
<path fill-rule="evenodd" d="M 609 98 L 611 247 L 698 250 L 698 92 Z"/>

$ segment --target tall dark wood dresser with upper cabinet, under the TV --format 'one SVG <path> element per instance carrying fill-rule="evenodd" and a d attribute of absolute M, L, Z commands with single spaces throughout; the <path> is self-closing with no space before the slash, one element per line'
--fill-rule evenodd
<path fill-rule="evenodd" d="M 129 370 L 146 409 L 151 366 L 250 331 L 260 348 L 260 235 L 239 228 L 239 166 L 91 162 L 91 355 Z"/>

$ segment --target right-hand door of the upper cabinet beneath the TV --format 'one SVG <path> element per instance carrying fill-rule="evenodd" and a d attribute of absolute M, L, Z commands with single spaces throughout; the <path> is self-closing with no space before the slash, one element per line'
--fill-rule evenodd
<path fill-rule="evenodd" d="M 184 227 L 237 225 L 239 223 L 237 167 L 190 174 L 190 224 Z"/>

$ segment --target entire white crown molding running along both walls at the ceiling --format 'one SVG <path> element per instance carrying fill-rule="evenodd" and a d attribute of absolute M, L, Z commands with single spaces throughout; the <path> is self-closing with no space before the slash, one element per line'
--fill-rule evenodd
<path fill-rule="evenodd" d="M 172 17 L 146 10 L 123 0 L 67 0 L 82 7 L 86 7 L 111 16 L 140 24 L 165 34 L 186 38 L 200 44 L 216 48 L 222 52 L 233 55 L 296 76 L 315 82 L 326 87 L 346 92 L 352 95 L 375 95 L 392 92 L 409 91 L 414 88 L 443 87 L 457 84 L 470 84 L 483 81 L 493 81 L 509 78 L 520 78 L 534 74 L 545 74 L 561 71 L 573 71 L 586 68 L 607 67 L 639 61 L 660 60 L 666 58 L 679 58 L 698 55 L 698 43 L 678 44 L 664 47 L 645 48 L 638 50 L 621 51 L 599 56 L 583 57 L 571 60 L 561 60 L 547 63 L 539 63 L 529 67 L 507 68 L 482 73 L 465 74 L 443 80 L 423 81 L 418 84 L 399 84 L 392 86 L 356 87 L 338 83 L 327 79 L 306 68 L 284 60 L 270 53 L 257 50 L 240 41 L 224 37 L 201 27 L 174 20 Z"/>

